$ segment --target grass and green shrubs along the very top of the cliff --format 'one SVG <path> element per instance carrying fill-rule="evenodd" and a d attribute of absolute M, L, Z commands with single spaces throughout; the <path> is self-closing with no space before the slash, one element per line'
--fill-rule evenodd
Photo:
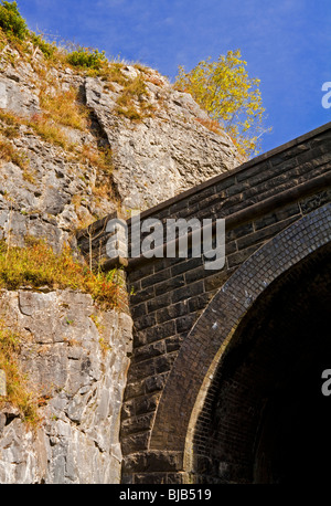
<path fill-rule="evenodd" d="M 143 118 L 151 117 L 154 107 L 146 103 L 148 91 L 146 82 L 147 75 L 136 78 L 124 75 L 125 64 L 119 61 L 107 59 L 105 51 L 94 48 L 84 48 L 74 43 L 65 43 L 57 46 L 55 42 L 47 42 L 42 35 L 36 35 L 30 31 L 25 20 L 19 12 L 17 2 L 0 0 L 0 49 L 12 45 L 25 59 L 33 68 L 45 80 L 45 89 L 41 92 L 41 106 L 45 114 L 38 115 L 31 122 L 36 133 L 44 139 L 55 143 L 63 148 L 67 148 L 64 133 L 58 125 L 71 126 L 84 130 L 86 128 L 87 108 L 77 104 L 77 96 L 73 89 L 68 92 L 58 91 L 56 96 L 45 93 L 50 70 L 54 67 L 63 68 L 71 66 L 78 73 L 89 76 L 98 76 L 105 83 L 105 89 L 114 91 L 114 83 L 122 86 L 120 96 L 114 113 L 124 116 L 134 123 L 139 123 Z M 35 49 L 43 55 L 42 64 L 35 59 Z M 2 54 L 2 59 L 8 57 L 12 65 L 15 65 L 15 55 Z M 141 64 L 134 64 L 142 74 L 146 68 Z M 53 83 L 54 84 L 54 83 Z"/>

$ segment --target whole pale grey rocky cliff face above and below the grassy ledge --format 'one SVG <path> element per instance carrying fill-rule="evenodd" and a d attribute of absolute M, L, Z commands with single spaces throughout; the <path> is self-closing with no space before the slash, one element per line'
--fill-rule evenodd
<path fill-rule="evenodd" d="M 238 164 L 232 140 L 151 68 L 117 64 L 105 78 L 46 62 L 32 44 L 24 54 L 0 45 L 0 239 L 10 244 L 75 249 L 77 229 Z M 57 102 L 77 120 L 58 119 Z M 2 402 L 0 483 L 119 483 L 130 316 L 52 287 L 2 289 L 0 306 L 43 400 L 38 429 Z"/>

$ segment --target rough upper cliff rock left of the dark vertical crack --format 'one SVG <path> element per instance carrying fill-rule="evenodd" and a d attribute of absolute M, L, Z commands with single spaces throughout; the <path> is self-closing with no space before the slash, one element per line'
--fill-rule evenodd
<path fill-rule="evenodd" d="M 10 55 L 10 57 L 8 57 Z M 12 63 L 14 61 L 14 63 Z M 25 119 L 41 114 L 40 93 L 44 82 L 49 92 L 79 89 L 84 77 L 66 70 L 51 68 L 44 80 L 43 56 L 34 50 L 33 65 L 7 46 L 0 53 L 0 112 Z M 75 231 L 117 209 L 108 194 L 94 193 L 97 168 L 79 158 L 84 146 L 97 149 L 98 131 L 61 126 L 68 140 L 64 149 L 45 140 L 26 122 L 13 138 L 7 139 L 6 117 L 0 118 L 0 138 L 28 160 L 22 169 L 4 157 L 0 167 L 0 239 L 24 244 L 26 235 L 43 238 L 55 251 L 65 242 L 75 246 Z M 75 152 L 73 152 L 75 150 Z"/>

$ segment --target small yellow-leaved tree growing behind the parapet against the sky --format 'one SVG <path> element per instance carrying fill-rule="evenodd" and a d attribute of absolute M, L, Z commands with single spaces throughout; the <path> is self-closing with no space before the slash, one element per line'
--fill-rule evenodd
<path fill-rule="evenodd" d="M 175 85 L 220 122 L 241 155 L 250 158 L 258 154 L 261 135 L 270 129 L 263 126 L 260 81 L 248 77 L 246 65 L 239 50 L 228 51 L 215 62 L 211 57 L 200 62 L 188 73 L 180 66 Z"/>

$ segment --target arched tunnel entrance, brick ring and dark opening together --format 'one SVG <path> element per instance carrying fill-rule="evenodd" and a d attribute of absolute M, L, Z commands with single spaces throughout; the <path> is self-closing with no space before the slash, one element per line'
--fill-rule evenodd
<path fill-rule="evenodd" d="M 330 238 L 327 204 L 268 241 L 220 287 L 183 340 L 146 446 L 128 454 L 124 479 L 327 481 Z"/>

